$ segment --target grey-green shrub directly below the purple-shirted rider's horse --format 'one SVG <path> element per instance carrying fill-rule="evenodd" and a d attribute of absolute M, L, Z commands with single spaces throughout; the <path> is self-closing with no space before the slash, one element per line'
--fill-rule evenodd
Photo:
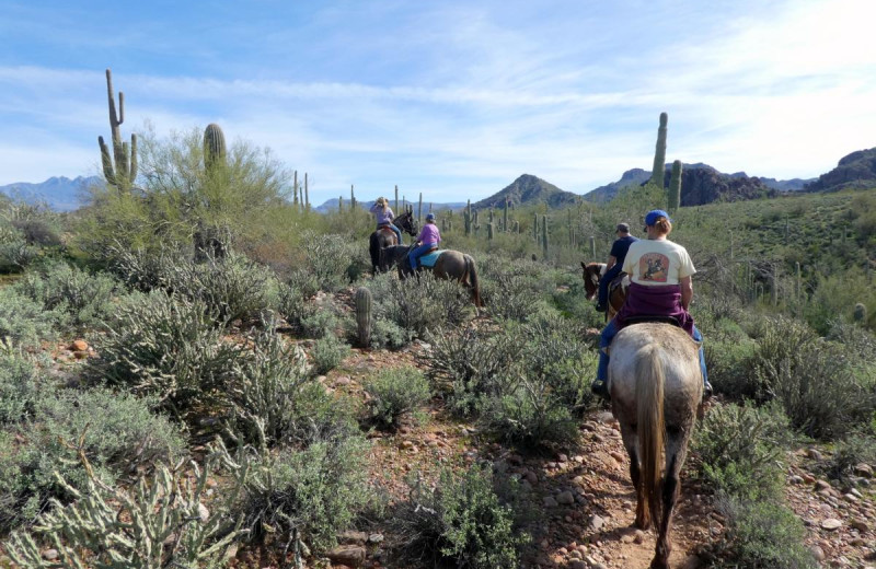
<path fill-rule="evenodd" d="M 374 317 L 387 318 L 402 329 L 424 337 L 427 329 L 456 326 L 472 312 L 469 293 L 457 282 L 436 279 L 431 272 L 399 280 L 383 274 L 372 281 Z"/>

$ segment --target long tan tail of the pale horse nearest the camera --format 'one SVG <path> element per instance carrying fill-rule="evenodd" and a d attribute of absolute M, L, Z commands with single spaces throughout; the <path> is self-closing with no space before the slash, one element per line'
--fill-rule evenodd
<path fill-rule="evenodd" d="M 655 523 L 659 523 L 661 518 L 661 461 L 666 444 L 665 382 L 666 372 L 659 348 L 655 345 L 642 348 L 636 360 L 637 430 L 642 460 L 643 499 L 647 501 L 650 518 Z"/>

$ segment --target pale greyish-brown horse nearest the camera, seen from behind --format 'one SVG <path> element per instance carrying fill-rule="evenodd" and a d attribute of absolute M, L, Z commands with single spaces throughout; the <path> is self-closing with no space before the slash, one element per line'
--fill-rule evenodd
<path fill-rule="evenodd" d="M 630 455 L 635 525 L 646 530 L 654 521 L 658 531 L 653 569 L 669 568 L 680 472 L 703 395 L 698 350 L 699 345 L 671 324 L 626 326 L 611 342 L 609 392 Z"/>

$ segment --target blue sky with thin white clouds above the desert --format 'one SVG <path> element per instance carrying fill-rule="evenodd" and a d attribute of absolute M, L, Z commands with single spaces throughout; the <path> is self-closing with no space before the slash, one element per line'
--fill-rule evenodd
<path fill-rule="evenodd" d="M 667 162 L 815 177 L 876 147 L 873 0 L 0 0 L 0 185 L 100 173 L 122 132 L 219 124 L 349 194 L 578 194 Z"/>

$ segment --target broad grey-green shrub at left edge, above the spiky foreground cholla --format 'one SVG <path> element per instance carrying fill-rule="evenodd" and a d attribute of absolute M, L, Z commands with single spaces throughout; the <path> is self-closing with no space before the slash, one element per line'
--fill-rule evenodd
<path fill-rule="evenodd" d="M 184 441 L 165 418 L 153 415 L 154 399 L 96 390 L 60 391 L 41 397 L 34 419 L 0 440 L 0 530 L 33 520 L 51 497 L 68 499 L 54 472 L 73 488 L 88 486 L 88 472 L 77 456 L 81 443 L 95 476 L 116 478 L 158 460 L 182 455 Z"/>

